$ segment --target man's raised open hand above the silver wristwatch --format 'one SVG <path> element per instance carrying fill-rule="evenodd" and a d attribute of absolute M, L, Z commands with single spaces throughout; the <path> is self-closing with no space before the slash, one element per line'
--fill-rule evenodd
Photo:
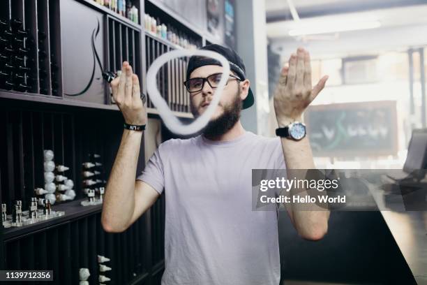
<path fill-rule="evenodd" d="M 317 85 L 311 86 L 310 54 L 299 47 L 292 54 L 289 67 L 284 66 L 274 92 L 274 110 L 279 127 L 299 121 L 307 106 L 316 98 L 328 80 L 325 75 Z"/>

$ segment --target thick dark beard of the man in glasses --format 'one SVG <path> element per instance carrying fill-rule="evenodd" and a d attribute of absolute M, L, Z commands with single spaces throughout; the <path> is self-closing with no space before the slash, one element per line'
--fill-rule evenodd
<path fill-rule="evenodd" d="M 207 126 L 202 129 L 202 133 L 206 138 L 215 139 L 219 136 L 222 136 L 227 131 L 230 131 L 232 127 L 239 121 L 240 112 L 242 108 L 242 101 L 240 98 L 240 90 L 237 92 L 236 96 L 234 96 L 234 100 L 230 105 L 226 105 L 223 107 L 224 112 L 216 119 L 212 119 L 209 121 Z M 194 106 L 191 106 L 193 115 L 198 117 L 197 110 L 195 110 Z"/>

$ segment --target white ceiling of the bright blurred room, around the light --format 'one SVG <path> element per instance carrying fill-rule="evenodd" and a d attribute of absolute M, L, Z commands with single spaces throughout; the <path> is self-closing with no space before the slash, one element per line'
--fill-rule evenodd
<path fill-rule="evenodd" d="M 319 58 L 427 46 L 426 0 L 291 0 L 297 21 L 288 0 L 265 1 L 269 45 L 284 57 L 299 46 Z M 380 22 L 380 27 L 290 36 L 294 29 L 343 27 L 349 22 Z"/>

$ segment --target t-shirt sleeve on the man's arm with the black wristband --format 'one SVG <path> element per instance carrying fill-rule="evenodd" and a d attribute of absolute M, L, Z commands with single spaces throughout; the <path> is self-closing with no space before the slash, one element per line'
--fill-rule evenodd
<path fill-rule="evenodd" d="M 161 147 L 161 145 L 160 145 Z M 159 194 L 165 187 L 165 176 L 163 172 L 163 161 L 160 155 L 160 147 L 150 157 L 144 170 L 138 175 L 137 180 L 142 180 L 153 187 Z"/>

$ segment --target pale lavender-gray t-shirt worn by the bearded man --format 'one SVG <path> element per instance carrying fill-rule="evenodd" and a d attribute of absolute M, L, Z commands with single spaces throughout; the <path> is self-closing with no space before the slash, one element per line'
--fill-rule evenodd
<path fill-rule="evenodd" d="M 285 168 L 279 138 L 163 142 L 137 180 L 165 189 L 163 285 L 278 285 L 278 212 L 253 211 L 252 169 Z"/>

